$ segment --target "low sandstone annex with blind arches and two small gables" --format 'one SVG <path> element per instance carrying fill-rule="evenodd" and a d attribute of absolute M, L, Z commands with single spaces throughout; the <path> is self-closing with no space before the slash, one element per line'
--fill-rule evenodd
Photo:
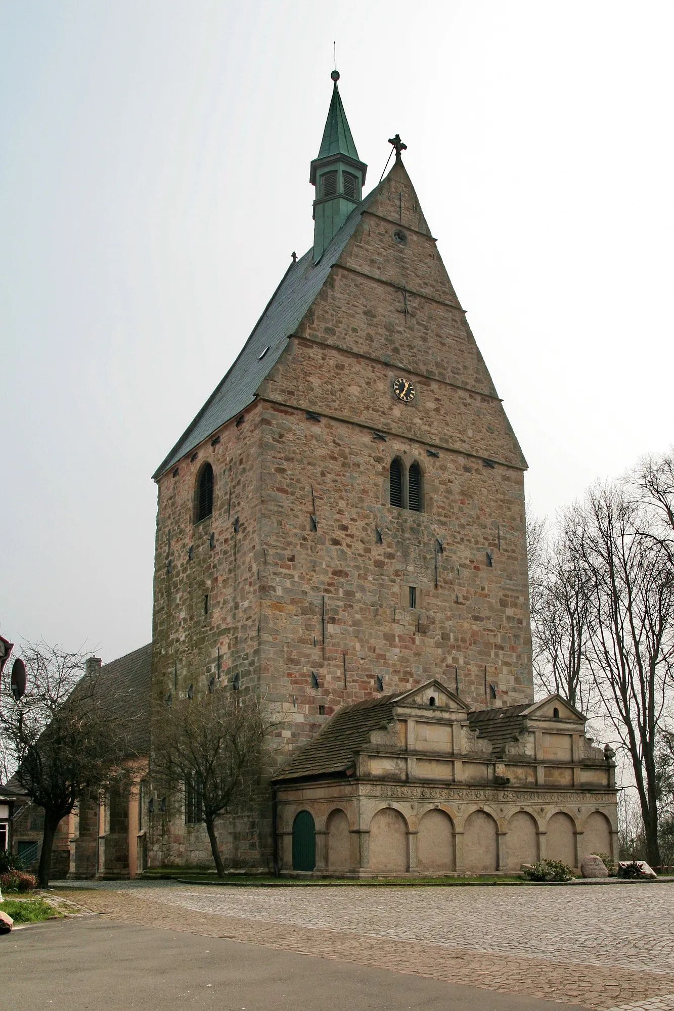
<path fill-rule="evenodd" d="M 272 782 L 284 871 L 517 871 L 617 855 L 615 763 L 560 696 L 472 710 L 438 680 L 340 709 Z"/>

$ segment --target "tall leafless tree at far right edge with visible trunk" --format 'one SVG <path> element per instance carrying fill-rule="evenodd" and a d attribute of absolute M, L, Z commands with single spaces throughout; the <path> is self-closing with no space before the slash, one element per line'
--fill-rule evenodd
<path fill-rule="evenodd" d="M 656 751 L 674 673 L 674 570 L 662 541 L 645 536 L 649 517 L 624 483 L 591 488 L 567 529 L 591 587 L 585 656 L 629 755 L 648 859 L 658 865 Z"/>

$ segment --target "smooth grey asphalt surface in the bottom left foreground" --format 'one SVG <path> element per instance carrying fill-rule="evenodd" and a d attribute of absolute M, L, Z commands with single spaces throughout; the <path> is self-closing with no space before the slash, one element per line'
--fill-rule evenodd
<path fill-rule="evenodd" d="M 551 1011 L 550 1001 L 102 917 L 0 937 L 5 1011 Z M 567 1004 L 568 1009 L 578 1007 Z"/>

